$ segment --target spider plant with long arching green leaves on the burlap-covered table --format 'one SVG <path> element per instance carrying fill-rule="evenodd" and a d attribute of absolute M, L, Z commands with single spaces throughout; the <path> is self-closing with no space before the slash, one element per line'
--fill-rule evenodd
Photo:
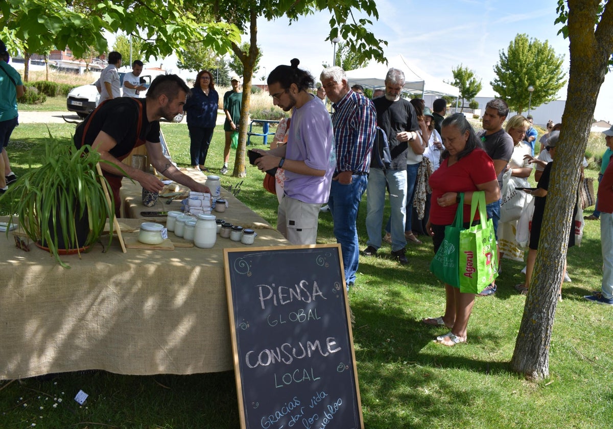
<path fill-rule="evenodd" d="M 115 207 L 112 199 L 109 204 L 102 188 L 101 180 L 105 178 L 96 171 L 99 161 L 100 154 L 90 146 L 77 149 L 70 140 L 50 138 L 40 160 L 42 166 L 21 175 L 2 195 L 10 195 L 13 200 L 9 222 L 18 216 L 26 235 L 47 246 L 65 268 L 69 265 L 60 259 L 61 250 L 76 250 L 80 255 L 80 247 L 101 237 L 107 218 L 111 228 L 109 244 L 113 237 Z M 110 189 L 108 183 L 107 188 Z M 83 219 L 87 219 L 85 229 L 88 227 L 84 232 L 78 227 Z"/>

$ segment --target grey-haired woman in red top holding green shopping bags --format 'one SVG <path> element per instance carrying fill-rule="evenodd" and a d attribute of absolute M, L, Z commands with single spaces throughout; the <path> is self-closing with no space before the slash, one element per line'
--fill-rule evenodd
<path fill-rule="evenodd" d="M 464 193 L 464 219 L 470 219 L 470 203 L 474 191 L 485 191 L 485 202 L 500 199 L 500 188 L 492 159 L 483 150 L 481 140 L 462 113 L 447 116 L 441 124 L 441 135 L 445 150 L 441 154 L 441 165 L 430 176 L 432 203 L 430 217 L 426 224 L 432 235 L 434 251 L 443 242 L 445 226 L 454 222 L 455 211 Z M 476 213 L 478 218 L 479 213 Z M 468 228 L 468 222 L 465 223 Z M 458 287 L 445 284 L 445 314 L 441 317 L 423 319 L 427 325 L 446 326 L 451 332 L 436 337 L 444 346 L 466 341 L 466 326 L 473 309 L 474 294 L 460 293 Z"/>

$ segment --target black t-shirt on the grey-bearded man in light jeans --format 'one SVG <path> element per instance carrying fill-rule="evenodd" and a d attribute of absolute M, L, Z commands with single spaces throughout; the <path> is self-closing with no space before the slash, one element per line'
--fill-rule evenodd
<path fill-rule="evenodd" d="M 417 131 L 417 115 L 413 104 L 408 100 L 401 98 L 398 101 L 389 101 L 386 97 L 377 97 L 373 99 L 377 111 L 377 125 L 387 134 L 389 149 L 392 153 L 392 165 L 390 168 L 394 170 L 406 169 L 406 142 L 398 142 L 396 134 L 403 131 Z M 394 148 L 398 145 L 405 146 L 405 150 L 397 154 Z"/>

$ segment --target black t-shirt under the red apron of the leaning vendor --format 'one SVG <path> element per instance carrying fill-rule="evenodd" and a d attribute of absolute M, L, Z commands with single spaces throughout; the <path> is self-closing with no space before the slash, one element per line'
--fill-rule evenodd
<path fill-rule="evenodd" d="M 142 115 L 140 139 L 159 143 L 159 121 L 150 123 L 147 120 L 147 102 L 145 100 L 142 100 L 142 106 L 143 108 L 140 110 L 138 101 L 132 97 L 118 97 L 104 102 L 94 112 L 91 112 L 75 130 L 75 146 L 81 147 L 83 130 L 86 123 L 91 120 L 85 136 L 85 144 L 92 145 L 99 132 L 104 131 L 117 142 L 109 153 L 115 158 L 121 158 L 130 153 L 136 145 L 139 111 Z"/>

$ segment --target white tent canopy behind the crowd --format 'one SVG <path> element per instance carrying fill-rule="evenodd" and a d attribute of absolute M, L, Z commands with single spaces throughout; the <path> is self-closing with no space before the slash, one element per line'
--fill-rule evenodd
<path fill-rule="evenodd" d="M 384 88 L 387 70 L 394 67 L 405 73 L 404 88 L 411 94 L 425 94 L 433 96 L 453 96 L 459 97 L 460 90 L 455 86 L 444 83 L 427 74 L 415 66 L 409 66 L 406 58 L 399 54 L 390 59 L 386 64 L 370 63 L 360 69 L 349 70 L 346 72 L 349 86 L 359 83 L 369 88 Z"/>

